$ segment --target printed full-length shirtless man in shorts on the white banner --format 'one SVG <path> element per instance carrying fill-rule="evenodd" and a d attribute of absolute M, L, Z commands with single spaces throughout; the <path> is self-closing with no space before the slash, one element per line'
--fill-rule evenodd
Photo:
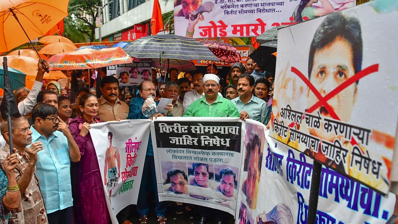
<path fill-rule="evenodd" d="M 117 185 L 120 177 L 120 154 L 119 149 L 112 145 L 112 132 L 108 132 L 109 147 L 105 152 L 105 185 L 109 192 L 109 199 L 111 198 L 111 191 Z M 117 167 L 116 167 L 117 162 Z"/>

